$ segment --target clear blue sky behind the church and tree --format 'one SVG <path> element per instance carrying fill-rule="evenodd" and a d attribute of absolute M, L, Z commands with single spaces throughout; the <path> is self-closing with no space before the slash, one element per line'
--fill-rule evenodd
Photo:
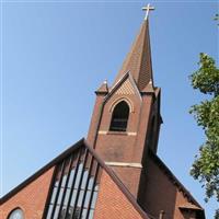
<path fill-rule="evenodd" d="M 145 1 L 3 1 L 1 195 L 87 136 L 95 89 L 113 82 L 143 20 Z M 217 1 L 151 1 L 150 35 L 164 124 L 159 157 L 212 218 L 216 201 L 188 172 L 203 130 L 189 106 L 198 54 L 218 58 Z"/>

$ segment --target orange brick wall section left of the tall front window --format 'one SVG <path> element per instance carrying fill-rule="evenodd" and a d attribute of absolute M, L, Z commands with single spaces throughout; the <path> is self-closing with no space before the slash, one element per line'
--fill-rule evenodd
<path fill-rule="evenodd" d="M 31 182 L 0 206 L 1 219 L 7 219 L 11 210 L 20 207 L 26 219 L 42 219 L 54 168 Z"/>

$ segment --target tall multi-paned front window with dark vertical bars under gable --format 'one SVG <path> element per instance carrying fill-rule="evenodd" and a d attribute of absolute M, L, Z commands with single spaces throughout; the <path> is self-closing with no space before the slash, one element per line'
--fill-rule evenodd
<path fill-rule="evenodd" d="M 56 168 L 46 219 L 92 219 L 101 166 L 87 148 Z"/>

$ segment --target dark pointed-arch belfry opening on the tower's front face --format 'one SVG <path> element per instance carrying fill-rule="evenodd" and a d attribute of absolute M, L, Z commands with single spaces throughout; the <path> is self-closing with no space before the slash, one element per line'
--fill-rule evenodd
<path fill-rule="evenodd" d="M 129 106 L 125 101 L 119 102 L 112 115 L 110 130 L 126 131 L 128 125 Z"/>

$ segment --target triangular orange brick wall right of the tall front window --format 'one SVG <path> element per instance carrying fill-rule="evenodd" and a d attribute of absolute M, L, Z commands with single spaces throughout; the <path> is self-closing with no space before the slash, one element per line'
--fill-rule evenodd
<path fill-rule="evenodd" d="M 142 219 L 118 186 L 103 171 L 94 219 Z"/>

